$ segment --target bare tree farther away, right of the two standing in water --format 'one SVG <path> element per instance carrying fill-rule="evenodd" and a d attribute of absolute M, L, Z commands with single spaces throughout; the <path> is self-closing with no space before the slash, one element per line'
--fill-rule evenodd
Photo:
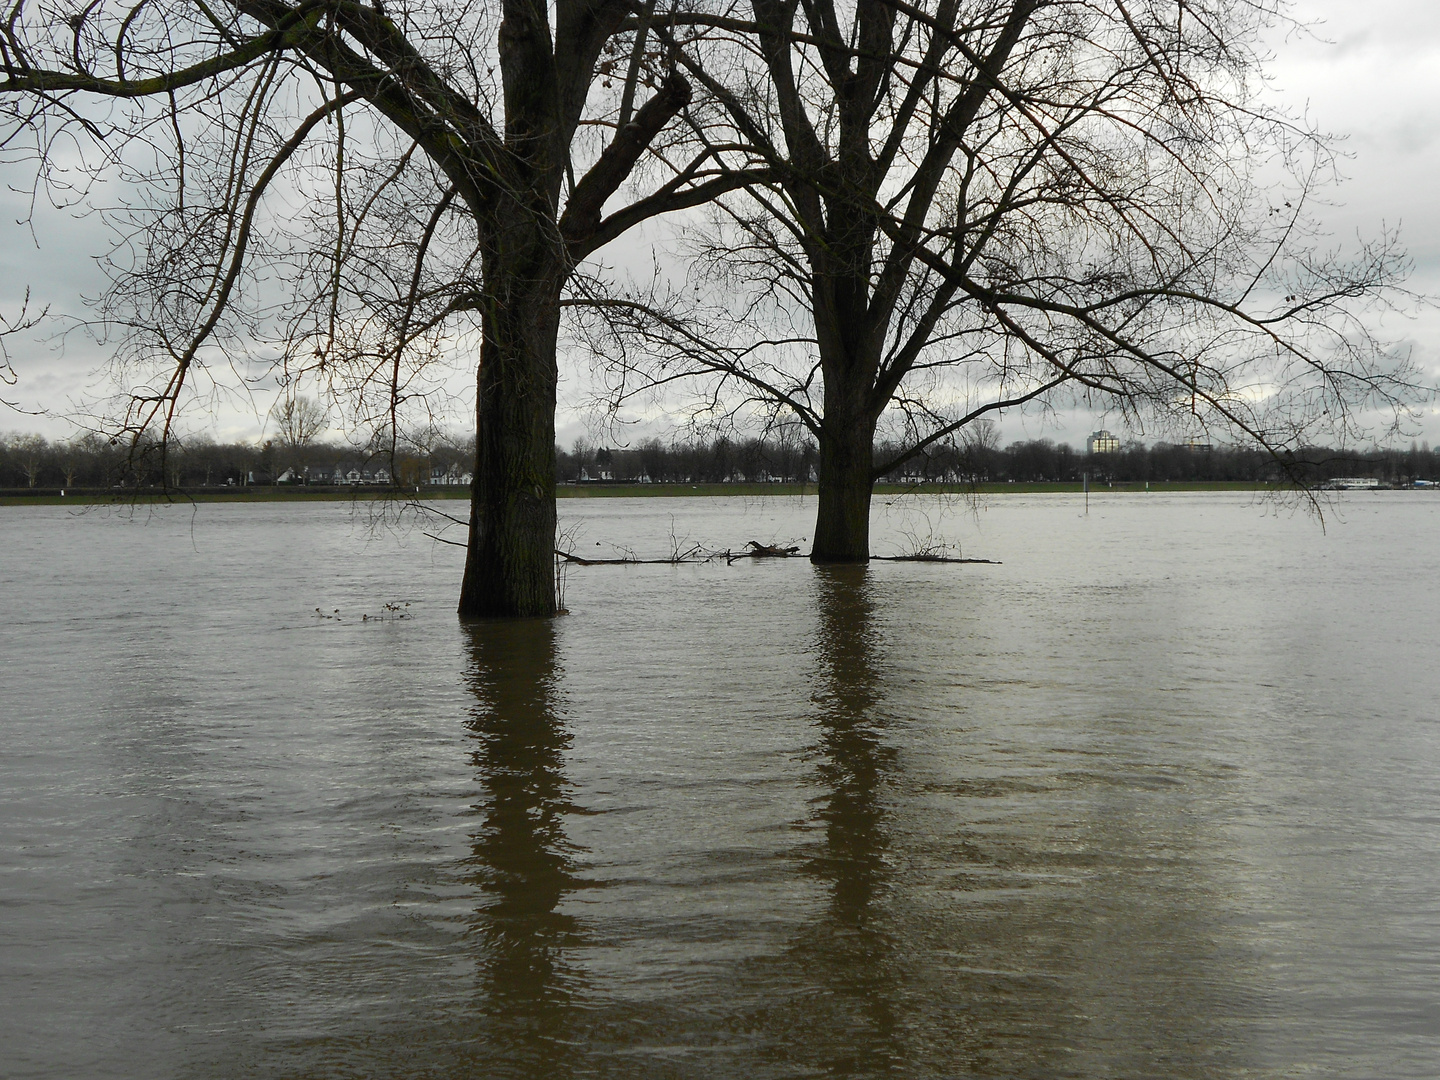
<path fill-rule="evenodd" d="M 729 63 L 690 73 L 770 179 L 691 230 L 690 288 L 598 302 L 642 340 L 616 399 L 698 379 L 809 428 L 815 560 L 868 557 L 876 478 L 1060 395 L 1273 451 L 1403 415 L 1365 314 L 1405 259 L 1318 248 L 1328 145 L 1260 95 L 1279 0 L 750 9 L 693 16 Z"/>

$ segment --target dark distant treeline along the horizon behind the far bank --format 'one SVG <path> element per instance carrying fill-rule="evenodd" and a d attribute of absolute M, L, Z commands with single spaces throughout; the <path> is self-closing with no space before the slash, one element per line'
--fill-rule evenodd
<path fill-rule="evenodd" d="M 890 444 L 876 446 L 876 461 L 897 456 Z M 900 464 L 883 480 L 893 482 L 1097 482 L 1251 481 L 1286 478 L 1306 482 L 1368 477 L 1385 484 L 1440 478 L 1440 454 L 1430 444 L 1408 449 L 1336 451 L 1312 448 L 1282 467 L 1260 449 L 1128 442 L 1109 454 L 1086 454 L 1064 442 L 1028 439 L 1008 446 L 946 445 Z M 336 485 L 337 474 L 360 482 L 413 488 L 469 482 L 474 441 L 442 439 L 431 446 L 389 452 L 337 444 L 302 446 L 278 442 L 193 439 L 132 451 L 98 435 L 48 441 L 39 435 L 0 435 L 0 488 L 112 488 L 168 484 L 179 488 L 246 484 Z M 808 439 L 714 438 L 687 442 L 647 439 L 629 448 L 576 442 L 556 448 L 560 482 L 723 484 L 814 481 L 819 467 Z M 347 481 L 354 482 L 354 481 Z"/>

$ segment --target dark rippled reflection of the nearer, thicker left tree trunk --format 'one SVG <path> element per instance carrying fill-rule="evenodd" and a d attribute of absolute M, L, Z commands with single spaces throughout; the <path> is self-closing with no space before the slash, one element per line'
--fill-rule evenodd
<path fill-rule="evenodd" d="M 575 920 L 562 900 L 586 883 L 573 873 L 564 815 L 575 811 L 564 776 L 570 743 L 557 706 L 554 626 L 547 621 L 475 624 L 471 688 L 474 763 L 482 824 L 472 880 L 488 903 L 475 933 L 484 994 L 477 1054 L 488 1074 L 559 1077 L 573 1071 L 572 1028 L 579 973 L 566 965 Z"/>

